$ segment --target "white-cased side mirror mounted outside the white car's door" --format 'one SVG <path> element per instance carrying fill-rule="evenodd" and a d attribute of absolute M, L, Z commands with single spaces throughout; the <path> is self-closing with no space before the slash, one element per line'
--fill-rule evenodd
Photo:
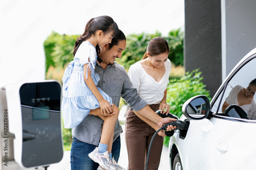
<path fill-rule="evenodd" d="M 205 95 L 198 95 L 188 99 L 182 107 L 183 114 L 188 120 L 201 120 L 209 115 L 210 102 Z"/>

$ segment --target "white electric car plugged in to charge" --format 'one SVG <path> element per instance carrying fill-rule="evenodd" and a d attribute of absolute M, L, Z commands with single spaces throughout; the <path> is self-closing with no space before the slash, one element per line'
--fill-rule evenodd
<path fill-rule="evenodd" d="M 172 170 L 256 168 L 256 120 L 239 104 L 222 112 L 230 91 L 237 85 L 247 88 L 255 78 L 256 48 L 230 72 L 210 103 L 204 95 L 184 103 L 180 120 L 189 123 L 189 128 L 170 137 Z"/>

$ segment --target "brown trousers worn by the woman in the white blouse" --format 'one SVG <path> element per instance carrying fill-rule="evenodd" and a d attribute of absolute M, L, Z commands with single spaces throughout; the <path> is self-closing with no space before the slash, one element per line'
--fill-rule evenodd
<path fill-rule="evenodd" d="M 152 110 L 159 110 L 160 104 L 149 105 Z M 155 129 L 142 121 L 129 108 L 125 122 L 125 142 L 128 152 L 127 170 L 144 170 L 150 141 Z M 147 170 L 157 170 L 163 148 L 164 137 L 156 135 L 151 146 Z"/>

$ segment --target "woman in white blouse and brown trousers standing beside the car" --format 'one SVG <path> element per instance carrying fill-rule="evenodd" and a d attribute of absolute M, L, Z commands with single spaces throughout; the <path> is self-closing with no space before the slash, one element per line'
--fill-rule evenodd
<path fill-rule="evenodd" d="M 140 97 L 147 101 L 152 110 L 161 110 L 163 114 L 168 114 L 170 109 L 170 106 L 166 104 L 167 84 L 171 70 L 169 52 L 168 43 L 163 37 L 152 38 L 143 60 L 133 64 L 128 72 Z M 157 124 L 151 123 L 141 115 L 138 117 L 135 113 L 129 109 L 125 123 L 125 142 L 129 158 L 127 170 L 144 169 L 150 141 L 156 130 L 160 128 Z M 155 137 L 148 169 L 158 169 L 163 140 L 163 136 Z"/>

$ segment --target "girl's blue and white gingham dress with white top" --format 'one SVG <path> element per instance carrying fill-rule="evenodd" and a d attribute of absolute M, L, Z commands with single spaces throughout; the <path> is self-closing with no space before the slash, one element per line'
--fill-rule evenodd
<path fill-rule="evenodd" d="M 90 62 L 88 60 L 90 59 Z M 95 47 L 88 41 L 80 44 L 74 60 L 71 61 L 63 75 L 62 103 L 61 110 L 65 128 L 73 128 L 79 125 L 89 114 L 90 110 L 100 107 L 99 101 L 95 98 L 84 81 L 83 65 L 88 64 L 87 70 L 91 70 L 91 77 L 97 86 L 100 77 L 95 73 L 97 54 Z M 86 72 L 86 79 L 88 72 Z M 104 99 L 112 104 L 112 99 L 97 87 Z"/>

